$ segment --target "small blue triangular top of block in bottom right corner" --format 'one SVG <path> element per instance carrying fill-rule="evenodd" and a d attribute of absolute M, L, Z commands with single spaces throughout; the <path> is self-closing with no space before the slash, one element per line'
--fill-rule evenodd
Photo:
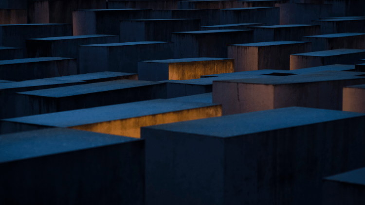
<path fill-rule="evenodd" d="M 336 174 L 325 178 L 329 181 L 344 182 L 365 186 L 365 168 Z"/>

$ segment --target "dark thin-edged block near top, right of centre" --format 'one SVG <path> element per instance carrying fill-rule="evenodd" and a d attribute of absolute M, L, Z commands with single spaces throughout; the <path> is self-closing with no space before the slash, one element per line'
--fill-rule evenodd
<path fill-rule="evenodd" d="M 266 25 L 279 25 L 280 8 L 252 7 L 220 10 L 220 24 L 233 23 L 266 23 Z"/>

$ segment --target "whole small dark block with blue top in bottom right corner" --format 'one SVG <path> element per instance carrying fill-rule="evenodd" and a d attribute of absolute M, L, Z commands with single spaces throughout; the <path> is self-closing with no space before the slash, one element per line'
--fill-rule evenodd
<path fill-rule="evenodd" d="M 323 205 L 362 205 L 365 203 L 365 168 L 324 178 Z"/>

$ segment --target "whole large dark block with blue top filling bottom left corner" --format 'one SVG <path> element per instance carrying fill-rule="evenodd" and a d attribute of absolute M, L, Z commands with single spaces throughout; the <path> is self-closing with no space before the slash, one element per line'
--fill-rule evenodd
<path fill-rule="evenodd" d="M 143 140 L 55 128 L 0 145 L 1 204 L 145 204 Z"/>

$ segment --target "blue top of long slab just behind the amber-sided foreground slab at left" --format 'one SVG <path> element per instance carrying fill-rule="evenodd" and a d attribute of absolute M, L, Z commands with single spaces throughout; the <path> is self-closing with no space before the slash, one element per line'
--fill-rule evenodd
<path fill-rule="evenodd" d="M 118 90 L 118 89 L 145 86 L 145 85 L 157 85 L 157 84 L 161 83 L 150 82 L 150 81 L 117 80 L 117 81 L 108 81 L 101 83 L 91 83 L 85 85 L 73 85 L 67 87 L 56 87 L 43 90 L 20 92 L 19 94 L 61 98 L 67 96 L 82 95 L 82 94 L 103 92 L 109 90 Z"/>

